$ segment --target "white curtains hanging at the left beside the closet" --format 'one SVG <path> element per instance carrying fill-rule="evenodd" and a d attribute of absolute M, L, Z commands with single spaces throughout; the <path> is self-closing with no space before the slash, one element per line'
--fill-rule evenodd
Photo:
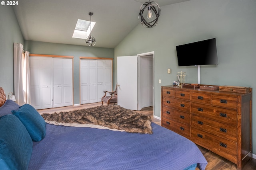
<path fill-rule="evenodd" d="M 29 52 L 22 55 L 23 45 L 14 43 L 13 67 L 14 67 L 14 95 L 16 103 L 20 106 L 30 104 L 30 68 Z"/>

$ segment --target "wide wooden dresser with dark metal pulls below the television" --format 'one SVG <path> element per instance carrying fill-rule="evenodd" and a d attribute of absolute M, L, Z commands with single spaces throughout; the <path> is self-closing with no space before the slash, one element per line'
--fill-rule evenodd
<path fill-rule="evenodd" d="M 238 170 L 252 158 L 252 88 L 244 93 L 161 88 L 163 127 L 234 162 Z"/>

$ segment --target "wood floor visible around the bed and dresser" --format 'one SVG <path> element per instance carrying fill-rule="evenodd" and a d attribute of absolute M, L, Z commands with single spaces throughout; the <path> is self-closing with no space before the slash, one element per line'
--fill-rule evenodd
<path fill-rule="evenodd" d="M 41 109 L 38 110 L 39 113 L 54 113 L 54 112 L 60 112 L 60 111 L 72 111 L 76 109 L 84 109 L 94 106 L 100 106 L 101 102 L 99 103 L 93 103 L 93 104 L 84 104 L 80 106 L 67 106 L 67 107 L 58 107 L 58 108 L 52 108 L 52 109 Z M 150 115 L 152 122 L 161 125 L 161 122 L 159 119 L 156 119 L 153 117 L 153 107 L 146 107 L 143 108 L 141 111 L 137 111 L 139 113 L 144 113 L 146 115 Z M 210 150 L 204 149 L 203 147 L 198 146 L 198 148 L 201 150 L 202 154 L 206 158 L 208 164 L 206 166 L 206 170 L 236 170 L 237 166 L 236 164 L 230 162 L 229 160 L 226 160 L 225 158 L 222 158 L 221 156 L 218 156 L 217 154 L 211 152 Z M 196 170 L 199 170 L 196 168 Z M 247 164 L 243 167 L 243 170 L 256 170 L 256 159 L 249 160 Z"/>

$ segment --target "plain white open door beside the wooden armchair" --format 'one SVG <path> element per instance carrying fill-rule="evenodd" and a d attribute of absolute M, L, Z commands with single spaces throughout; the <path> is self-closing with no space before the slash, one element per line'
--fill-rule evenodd
<path fill-rule="evenodd" d="M 118 105 L 138 110 L 137 56 L 117 57 Z"/>

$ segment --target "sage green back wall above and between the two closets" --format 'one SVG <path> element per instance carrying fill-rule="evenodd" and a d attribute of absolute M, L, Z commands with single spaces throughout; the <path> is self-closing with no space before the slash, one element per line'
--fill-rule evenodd
<path fill-rule="evenodd" d="M 114 58 L 114 49 L 25 41 L 26 51 L 30 54 L 74 56 L 74 104 L 80 104 L 79 57 Z"/>

